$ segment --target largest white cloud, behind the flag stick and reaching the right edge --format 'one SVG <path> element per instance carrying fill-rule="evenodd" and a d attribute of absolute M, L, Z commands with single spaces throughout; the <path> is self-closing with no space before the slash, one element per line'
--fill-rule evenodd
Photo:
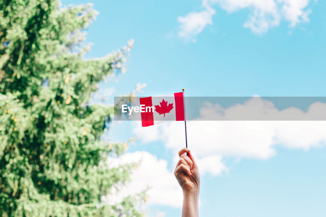
<path fill-rule="evenodd" d="M 259 105 L 257 100 L 261 101 L 260 106 L 257 106 Z M 253 101 L 255 101 L 254 104 Z M 218 156 L 268 159 L 276 154 L 274 149 L 276 145 L 304 150 L 311 147 L 321 147 L 326 144 L 325 121 L 202 120 L 207 120 L 204 115 L 210 117 L 222 116 L 227 120 L 229 116 L 235 117 L 236 114 L 240 113 L 240 108 L 244 111 L 252 110 L 255 117 L 270 115 L 280 119 L 282 117 L 296 117 L 297 120 L 311 120 L 321 111 L 324 112 L 325 107 L 325 103 L 316 102 L 306 112 L 294 107 L 278 110 L 273 103 L 262 100 L 260 97 L 253 97 L 244 104 L 237 104 L 224 110 L 219 105 L 206 106 L 202 108 L 201 118 L 197 119 L 197 121 L 187 121 L 188 147 L 198 161 L 205 162 L 202 167 L 199 167 L 200 171 L 206 171 L 213 175 L 217 175 L 226 169 L 223 164 L 213 163 L 213 159 L 222 162 L 222 158 L 218 158 Z M 164 142 L 165 147 L 173 152 L 177 152 L 185 144 L 183 122 L 171 122 L 151 127 L 138 125 L 134 129 L 134 133 L 146 142 L 161 140 Z M 213 167 L 216 164 L 219 169 L 214 170 L 216 168 Z"/>

